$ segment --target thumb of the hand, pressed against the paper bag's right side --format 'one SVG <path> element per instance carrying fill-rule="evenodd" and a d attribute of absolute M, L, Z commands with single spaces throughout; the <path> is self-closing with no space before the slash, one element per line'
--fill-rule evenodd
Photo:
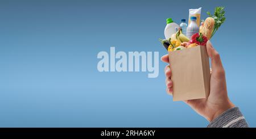
<path fill-rule="evenodd" d="M 217 50 L 213 48 L 212 43 L 210 43 L 209 40 L 207 41 L 207 53 L 210 57 L 212 70 L 214 71 L 223 69 L 220 54 L 218 54 Z"/>

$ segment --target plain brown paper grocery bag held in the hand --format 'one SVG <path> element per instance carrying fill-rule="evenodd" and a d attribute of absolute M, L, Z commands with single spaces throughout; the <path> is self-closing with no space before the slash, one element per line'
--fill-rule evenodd
<path fill-rule="evenodd" d="M 205 46 L 169 52 L 173 100 L 207 98 L 210 91 L 209 57 Z"/>

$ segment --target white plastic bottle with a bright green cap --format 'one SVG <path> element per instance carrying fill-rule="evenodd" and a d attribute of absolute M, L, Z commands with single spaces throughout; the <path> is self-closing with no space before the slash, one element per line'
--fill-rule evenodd
<path fill-rule="evenodd" d="M 166 39 L 169 39 L 174 33 L 176 33 L 176 28 L 179 28 L 180 26 L 172 21 L 171 18 L 166 19 L 166 28 L 164 29 L 164 36 Z"/>

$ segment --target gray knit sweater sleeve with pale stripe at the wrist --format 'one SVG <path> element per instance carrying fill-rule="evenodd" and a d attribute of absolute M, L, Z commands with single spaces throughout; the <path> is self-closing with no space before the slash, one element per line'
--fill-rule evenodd
<path fill-rule="evenodd" d="M 248 128 L 245 117 L 238 107 L 230 108 L 212 121 L 208 128 Z"/>

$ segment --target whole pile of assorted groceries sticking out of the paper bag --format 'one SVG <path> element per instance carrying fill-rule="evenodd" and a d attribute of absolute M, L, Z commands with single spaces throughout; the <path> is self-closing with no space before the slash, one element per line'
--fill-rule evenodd
<path fill-rule="evenodd" d="M 199 26 L 197 26 L 197 18 L 200 19 L 200 15 L 196 15 L 195 13 L 201 15 L 201 8 L 189 10 L 191 22 L 187 27 L 187 33 L 184 33 L 186 25 L 185 19 L 181 20 L 182 23 L 180 26 L 174 23 L 171 18 L 166 19 L 167 26 L 164 30 L 166 39 L 159 40 L 168 52 L 192 48 L 199 45 L 205 46 L 207 41 L 210 40 L 226 19 L 224 7 L 216 7 L 213 15 L 207 12 L 209 17 L 205 19 L 204 22 L 201 22 L 199 28 Z"/>

